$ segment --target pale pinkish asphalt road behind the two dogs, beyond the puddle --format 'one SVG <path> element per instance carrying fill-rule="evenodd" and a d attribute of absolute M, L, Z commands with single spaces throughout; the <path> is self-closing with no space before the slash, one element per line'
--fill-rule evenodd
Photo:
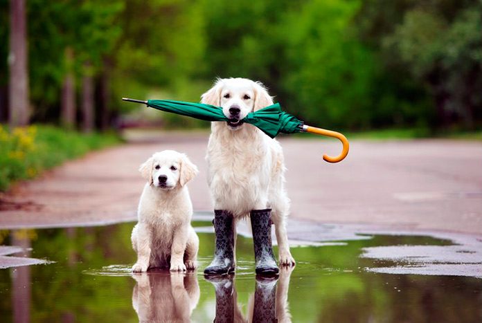
<path fill-rule="evenodd" d="M 350 141 L 281 138 L 292 217 L 388 230 L 482 235 L 482 145 L 458 140 Z M 350 139 L 350 138 L 348 138 Z M 211 210 L 204 160 L 208 133 L 130 136 L 130 142 L 66 163 L 3 196 L 0 228 L 132 221 L 144 185 L 139 165 L 154 151 L 185 152 L 200 174 L 189 184 L 195 210 Z M 289 228 L 288 228 L 289 231 Z"/>

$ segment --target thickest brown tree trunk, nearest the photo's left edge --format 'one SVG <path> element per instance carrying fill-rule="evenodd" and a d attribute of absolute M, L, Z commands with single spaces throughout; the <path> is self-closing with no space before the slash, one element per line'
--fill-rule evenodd
<path fill-rule="evenodd" d="M 28 70 L 26 10 L 24 0 L 10 1 L 10 66 L 9 111 L 10 126 L 28 124 Z"/>

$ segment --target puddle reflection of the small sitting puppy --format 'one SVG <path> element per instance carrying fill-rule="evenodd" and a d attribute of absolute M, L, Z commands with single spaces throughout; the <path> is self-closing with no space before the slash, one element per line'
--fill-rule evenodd
<path fill-rule="evenodd" d="M 132 307 L 139 322 L 190 322 L 199 302 L 196 273 L 134 274 Z"/>

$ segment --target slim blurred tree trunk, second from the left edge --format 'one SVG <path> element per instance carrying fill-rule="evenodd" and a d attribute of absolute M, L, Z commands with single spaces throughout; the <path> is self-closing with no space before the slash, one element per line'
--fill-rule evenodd
<path fill-rule="evenodd" d="M 73 76 L 73 51 L 65 50 L 66 73 L 62 84 L 62 107 L 60 108 L 60 120 L 62 126 L 67 129 L 75 127 L 75 78 Z"/>

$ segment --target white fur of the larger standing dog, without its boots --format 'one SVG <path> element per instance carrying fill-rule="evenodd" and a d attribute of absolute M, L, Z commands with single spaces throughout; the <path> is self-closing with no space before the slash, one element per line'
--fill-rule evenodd
<path fill-rule="evenodd" d="M 217 80 L 202 95 L 202 103 L 229 109 L 240 108 L 240 120 L 251 111 L 273 104 L 260 82 L 243 78 Z M 294 265 L 289 252 L 285 220 L 289 199 L 285 191 L 283 150 L 277 140 L 269 138 L 251 124 L 237 127 L 227 122 L 213 122 L 208 142 L 208 185 L 216 210 L 229 210 L 240 219 L 251 210 L 271 208 L 278 241 L 278 261 Z"/>

